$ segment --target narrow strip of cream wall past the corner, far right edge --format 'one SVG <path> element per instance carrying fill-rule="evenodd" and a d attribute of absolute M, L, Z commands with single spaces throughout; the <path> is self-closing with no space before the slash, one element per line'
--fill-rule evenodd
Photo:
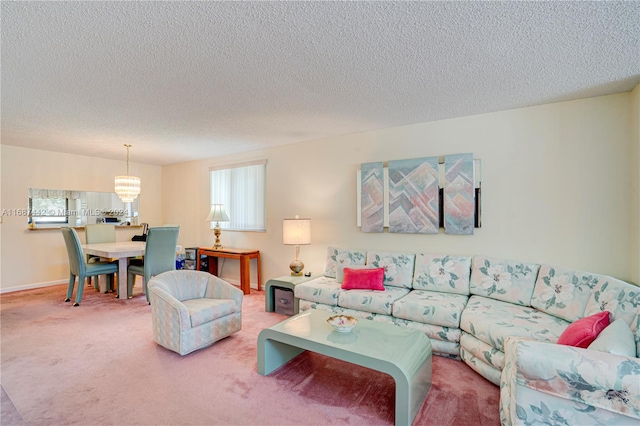
<path fill-rule="evenodd" d="M 640 284 L 640 85 L 631 92 L 631 280 Z"/>

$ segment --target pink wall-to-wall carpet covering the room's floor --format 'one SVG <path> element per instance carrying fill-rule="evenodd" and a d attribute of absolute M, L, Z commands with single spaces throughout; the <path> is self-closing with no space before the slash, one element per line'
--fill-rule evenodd
<path fill-rule="evenodd" d="M 181 357 L 151 335 L 143 295 L 122 301 L 64 285 L 1 296 L 0 423 L 8 425 L 389 425 L 390 376 L 305 352 L 256 372 L 264 292 L 243 303 L 243 329 Z M 415 425 L 498 425 L 499 389 L 464 363 L 433 357 Z"/>

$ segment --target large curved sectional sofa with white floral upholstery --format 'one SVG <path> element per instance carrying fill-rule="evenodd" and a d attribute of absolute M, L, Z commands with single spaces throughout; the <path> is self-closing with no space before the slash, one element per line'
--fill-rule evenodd
<path fill-rule="evenodd" d="M 384 291 L 344 290 L 345 267 L 384 268 Z M 321 277 L 298 284 L 322 309 L 423 331 L 501 387 L 503 424 L 639 424 L 640 288 L 605 275 L 484 256 L 329 247 Z M 559 345 L 575 321 L 609 311 L 632 336 L 627 356 Z"/>

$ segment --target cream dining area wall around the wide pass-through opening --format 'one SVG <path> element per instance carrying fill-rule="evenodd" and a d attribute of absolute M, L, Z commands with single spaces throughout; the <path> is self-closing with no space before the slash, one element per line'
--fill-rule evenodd
<path fill-rule="evenodd" d="M 113 178 L 124 170 L 123 161 L 1 145 L 3 209 L 28 206 L 28 188 L 113 191 Z M 140 220 L 161 225 L 161 168 L 131 163 L 132 174 L 142 180 Z M 58 230 L 28 231 L 25 217 L 2 218 L 0 289 L 26 289 L 66 282 L 69 263 Z M 118 239 L 131 239 L 139 228 L 118 230 Z M 79 232 L 84 240 L 84 233 Z"/>

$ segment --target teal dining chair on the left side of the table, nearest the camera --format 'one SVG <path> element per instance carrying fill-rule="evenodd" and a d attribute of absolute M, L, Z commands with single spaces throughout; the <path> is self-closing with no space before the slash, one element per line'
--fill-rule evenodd
<path fill-rule="evenodd" d="M 67 246 L 67 255 L 69 256 L 69 286 L 67 287 L 67 298 L 65 302 L 71 300 L 73 295 L 73 287 L 75 286 L 76 277 L 78 277 L 78 290 L 76 291 L 76 302 L 73 306 L 80 306 L 82 300 L 82 292 L 84 291 L 84 280 L 86 277 L 96 277 L 98 275 L 107 276 L 107 288 L 114 287 L 114 274 L 118 272 L 118 265 L 109 262 L 93 262 L 87 263 L 80 238 L 75 229 L 68 226 L 62 227 L 62 236 Z"/>

